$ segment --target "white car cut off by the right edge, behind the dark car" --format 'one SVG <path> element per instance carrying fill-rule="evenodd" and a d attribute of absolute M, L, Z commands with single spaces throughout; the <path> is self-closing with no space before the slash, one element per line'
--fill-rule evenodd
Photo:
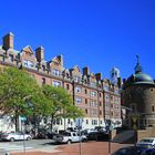
<path fill-rule="evenodd" d="M 136 146 L 147 148 L 155 147 L 155 137 L 144 137 L 136 143 Z"/>

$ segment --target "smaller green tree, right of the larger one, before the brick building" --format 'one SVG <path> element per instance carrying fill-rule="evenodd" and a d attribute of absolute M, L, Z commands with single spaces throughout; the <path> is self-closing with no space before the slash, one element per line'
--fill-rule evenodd
<path fill-rule="evenodd" d="M 62 87 L 54 87 L 51 85 L 43 85 L 42 91 L 49 101 L 51 101 L 52 111 L 49 111 L 51 115 L 51 130 L 53 127 L 53 121 L 58 117 L 80 117 L 83 116 L 82 110 L 73 105 L 71 95 L 66 90 Z"/>

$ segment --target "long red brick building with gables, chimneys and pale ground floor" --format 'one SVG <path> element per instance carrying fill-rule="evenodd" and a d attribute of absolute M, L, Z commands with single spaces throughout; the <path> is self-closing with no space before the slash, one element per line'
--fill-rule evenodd
<path fill-rule="evenodd" d="M 121 123 L 121 95 L 117 84 L 103 80 L 101 73 L 92 73 L 89 68 L 66 69 L 63 56 L 58 55 L 50 61 L 44 60 L 44 48 L 35 51 L 27 45 L 21 51 L 14 50 L 13 34 L 3 37 L 0 46 L 0 65 L 22 68 L 35 78 L 40 85 L 62 86 L 74 99 L 74 104 L 83 110 L 84 128 L 105 126 L 107 120 L 113 124 Z M 2 117 L 0 120 L 2 122 Z M 74 126 L 73 120 L 65 121 L 65 126 Z M 64 120 L 55 121 L 55 127 L 63 128 Z M 2 128 L 0 128 L 1 131 Z"/>

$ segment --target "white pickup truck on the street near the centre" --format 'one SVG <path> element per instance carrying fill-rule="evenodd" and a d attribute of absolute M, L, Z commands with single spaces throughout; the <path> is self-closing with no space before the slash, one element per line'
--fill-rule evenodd
<path fill-rule="evenodd" d="M 73 142 L 82 142 L 87 141 L 87 137 L 85 135 L 80 135 L 76 132 L 63 132 L 61 134 L 54 135 L 53 141 L 55 143 L 68 143 L 71 144 Z"/>

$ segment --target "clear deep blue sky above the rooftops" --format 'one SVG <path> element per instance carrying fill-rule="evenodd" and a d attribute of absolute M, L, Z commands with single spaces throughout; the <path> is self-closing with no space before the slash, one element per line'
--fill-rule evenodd
<path fill-rule="evenodd" d="M 136 54 L 155 79 L 155 0 L 1 1 L 0 44 L 14 33 L 14 49 L 45 49 L 45 60 L 64 56 L 64 65 L 103 78 L 116 66 L 122 78 L 134 72 Z"/>

